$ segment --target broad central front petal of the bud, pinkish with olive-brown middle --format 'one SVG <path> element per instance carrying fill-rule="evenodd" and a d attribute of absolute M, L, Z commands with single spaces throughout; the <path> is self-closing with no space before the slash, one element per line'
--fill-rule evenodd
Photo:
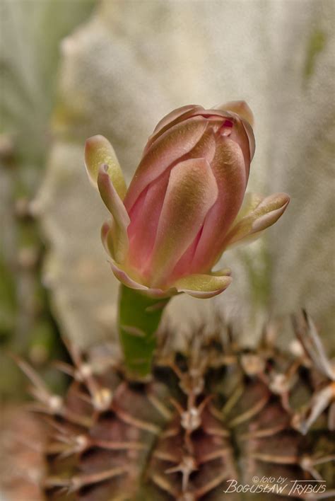
<path fill-rule="evenodd" d="M 217 197 L 216 180 L 205 159 L 189 159 L 172 168 L 148 270 L 153 283 L 171 275 Z"/>

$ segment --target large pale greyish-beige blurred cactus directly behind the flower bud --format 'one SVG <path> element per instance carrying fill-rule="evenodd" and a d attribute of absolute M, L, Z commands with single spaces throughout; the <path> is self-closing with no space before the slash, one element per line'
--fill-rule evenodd
<path fill-rule="evenodd" d="M 256 333 L 266 304 L 275 315 L 303 304 L 327 332 L 334 296 L 324 264 L 333 213 L 331 1 L 308 1 L 303 16 L 299 5 L 102 1 L 64 40 L 55 140 L 36 207 L 51 243 L 45 277 L 74 338 L 85 344 L 92 332 L 110 336 L 117 295 L 96 238 L 104 212 L 82 172 L 81 144 L 108 137 L 129 180 L 160 116 L 185 102 L 220 103 L 223 94 L 243 96 L 257 117 L 251 190 L 283 190 L 292 204 L 269 236 L 228 251 L 235 280 L 222 299 L 196 307 L 172 299 L 165 320 L 184 332 L 194 316 L 209 328 L 223 311 L 246 333 L 258 326 Z"/>

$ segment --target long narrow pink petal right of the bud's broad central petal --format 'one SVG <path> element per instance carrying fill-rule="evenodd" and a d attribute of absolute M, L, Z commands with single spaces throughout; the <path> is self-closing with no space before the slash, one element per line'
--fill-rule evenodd
<path fill-rule="evenodd" d="M 225 234 L 242 205 L 247 185 L 242 151 L 230 138 L 225 137 L 216 145 L 211 167 L 218 185 L 218 200 L 206 216 L 192 263 L 194 272 L 206 272 L 216 263 Z"/>

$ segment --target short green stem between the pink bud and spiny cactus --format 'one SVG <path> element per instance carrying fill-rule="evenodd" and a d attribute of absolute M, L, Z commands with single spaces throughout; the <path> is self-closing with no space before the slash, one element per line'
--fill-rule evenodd
<path fill-rule="evenodd" d="M 119 289 L 119 337 L 129 379 L 151 372 L 158 329 L 167 299 L 152 299 L 124 285 Z"/>

